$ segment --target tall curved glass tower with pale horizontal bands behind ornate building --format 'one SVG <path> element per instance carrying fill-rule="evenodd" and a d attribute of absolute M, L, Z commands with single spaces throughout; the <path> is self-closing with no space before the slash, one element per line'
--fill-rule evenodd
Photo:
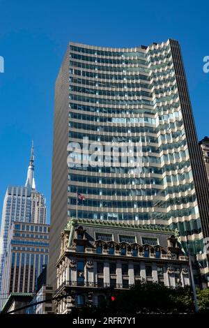
<path fill-rule="evenodd" d="M 141 165 L 103 165 L 102 157 L 70 167 L 69 142 L 88 144 L 79 155 L 87 159 L 93 143 L 132 143 L 134 154 L 140 145 Z M 119 153 L 122 162 L 127 154 Z M 70 43 L 55 89 L 49 283 L 61 230 L 76 216 L 178 229 L 206 277 L 208 190 L 178 41 L 128 49 Z"/>

